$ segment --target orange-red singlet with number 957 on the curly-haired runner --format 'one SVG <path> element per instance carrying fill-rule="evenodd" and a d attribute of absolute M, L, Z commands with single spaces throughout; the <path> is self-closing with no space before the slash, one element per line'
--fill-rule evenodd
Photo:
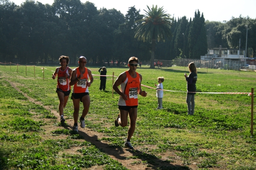
<path fill-rule="evenodd" d="M 62 71 L 61 67 L 58 68 L 57 74 L 58 74 L 58 84 L 57 88 L 60 88 L 62 91 L 69 91 L 71 89 L 69 82 L 70 79 L 65 77 L 65 74 L 70 76 L 68 74 L 69 67 L 66 68 L 66 70 Z"/>

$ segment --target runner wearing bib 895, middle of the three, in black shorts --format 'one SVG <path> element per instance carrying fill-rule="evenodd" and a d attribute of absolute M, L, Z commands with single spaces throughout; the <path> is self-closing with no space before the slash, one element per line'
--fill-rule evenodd
<path fill-rule="evenodd" d="M 83 103 L 84 109 L 82 115 L 79 119 L 80 127 L 84 128 L 84 117 L 87 115 L 89 108 L 90 108 L 90 96 L 88 88 L 93 83 L 93 75 L 90 69 L 86 68 L 85 65 L 87 63 L 86 58 L 81 56 L 79 58 L 79 67 L 75 68 L 72 71 L 71 78 L 70 78 L 70 85 L 74 85 L 73 93 L 71 99 L 73 100 L 74 105 L 74 126 L 73 130 L 78 132 L 78 117 L 79 117 L 79 108 L 80 102 Z M 88 81 L 90 79 L 90 81 Z"/>

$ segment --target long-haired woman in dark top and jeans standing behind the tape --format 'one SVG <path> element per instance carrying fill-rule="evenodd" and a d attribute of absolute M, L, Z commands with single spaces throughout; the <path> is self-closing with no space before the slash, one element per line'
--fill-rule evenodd
<path fill-rule="evenodd" d="M 197 81 L 197 70 L 195 67 L 194 62 L 189 63 L 189 76 L 184 74 L 187 81 L 187 96 L 186 96 L 186 103 L 188 105 L 188 115 L 194 115 L 195 110 L 195 92 L 196 92 L 196 86 L 195 83 Z M 189 93 L 194 92 L 194 93 Z"/>

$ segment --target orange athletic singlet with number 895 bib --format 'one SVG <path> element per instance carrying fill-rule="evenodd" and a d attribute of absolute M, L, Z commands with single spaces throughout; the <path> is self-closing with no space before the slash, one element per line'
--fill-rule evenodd
<path fill-rule="evenodd" d="M 89 93 L 88 87 L 87 87 L 87 81 L 88 81 L 88 71 L 87 68 L 85 68 L 85 72 L 83 74 L 83 77 L 74 85 L 73 87 L 73 93 Z M 79 77 L 80 71 L 79 67 L 76 68 L 76 77 Z"/>

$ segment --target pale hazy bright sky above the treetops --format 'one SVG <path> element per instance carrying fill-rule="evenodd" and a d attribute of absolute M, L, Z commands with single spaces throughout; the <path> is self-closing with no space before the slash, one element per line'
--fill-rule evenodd
<path fill-rule="evenodd" d="M 20 5 L 25 0 L 10 0 L 16 5 Z M 41 2 L 43 4 L 50 4 L 54 0 L 35 0 L 35 2 Z M 85 3 L 87 0 L 81 0 Z M 209 21 L 228 21 L 232 17 L 249 16 L 252 19 L 256 19 L 256 0 L 89 0 L 94 3 L 97 9 L 105 7 L 107 9 L 115 8 L 121 11 L 122 14 L 126 14 L 128 8 L 135 6 L 140 14 L 144 13 L 144 9 L 147 9 L 147 5 L 157 5 L 162 7 L 167 14 L 176 17 L 186 16 L 193 19 L 195 11 L 199 10 L 204 14 L 204 19 Z"/>

